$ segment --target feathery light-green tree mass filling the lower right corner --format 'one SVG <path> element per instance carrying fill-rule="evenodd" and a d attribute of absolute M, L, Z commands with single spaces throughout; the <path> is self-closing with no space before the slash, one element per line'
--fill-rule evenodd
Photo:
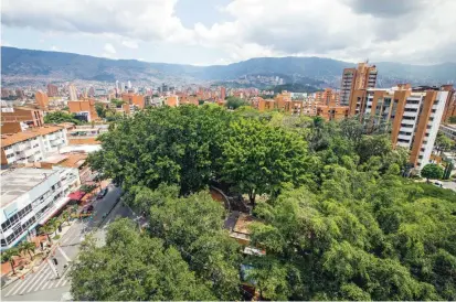
<path fill-rule="evenodd" d="M 344 194 L 299 188 L 258 205 L 263 223 L 253 226 L 252 240 L 266 256 L 250 265 L 263 296 L 454 300 L 454 195 L 423 197 L 421 184 L 395 176 L 357 193 L 351 173 L 335 174 Z"/>

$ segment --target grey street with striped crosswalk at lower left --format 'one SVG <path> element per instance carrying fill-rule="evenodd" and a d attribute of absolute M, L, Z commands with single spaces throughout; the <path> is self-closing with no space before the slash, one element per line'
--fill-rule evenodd
<path fill-rule="evenodd" d="M 71 262 L 77 257 L 79 245 L 87 233 L 94 230 L 95 237 L 102 242 L 105 237 L 106 227 L 117 217 L 132 218 L 131 211 L 117 203 L 120 188 L 110 187 L 106 196 L 94 203 L 94 217 L 86 220 L 73 223 L 66 234 L 60 239 L 61 250 L 55 250 L 54 258 L 57 260 L 56 270 L 59 277 L 51 266 L 44 261 L 35 270 L 25 276 L 24 280 L 17 280 L 1 290 L 2 301 L 62 301 L 68 300 L 70 281 L 67 273 Z M 108 214 L 108 215 L 107 215 Z M 104 215 L 107 217 L 104 218 Z M 63 251 L 63 252 L 62 252 Z"/>

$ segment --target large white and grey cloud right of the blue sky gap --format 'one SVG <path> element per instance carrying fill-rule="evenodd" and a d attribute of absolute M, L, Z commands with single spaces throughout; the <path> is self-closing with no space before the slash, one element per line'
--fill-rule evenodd
<path fill-rule="evenodd" d="M 410 0 L 412 1 L 412 0 Z M 318 55 L 341 60 L 454 61 L 456 1 L 233 0 L 234 21 L 195 25 L 202 45 L 234 61 L 254 56 Z M 409 0 L 400 1 L 409 2 Z M 443 57 L 446 54 L 446 57 Z"/>

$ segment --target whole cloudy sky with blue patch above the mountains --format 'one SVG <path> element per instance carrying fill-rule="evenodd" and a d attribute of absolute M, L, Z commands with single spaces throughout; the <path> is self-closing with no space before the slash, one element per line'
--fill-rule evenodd
<path fill-rule="evenodd" d="M 192 65 L 456 62 L 456 0 L 2 0 L 1 45 Z"/>

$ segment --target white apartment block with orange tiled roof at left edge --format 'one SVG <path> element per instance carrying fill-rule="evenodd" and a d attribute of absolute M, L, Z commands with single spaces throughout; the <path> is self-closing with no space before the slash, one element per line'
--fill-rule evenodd
<path fill-rule="evenodd" d="M 67 145 L 66 129 L 59 126 L 31 128 L 1 136 L 1 164 L 41 161 Z"/>

